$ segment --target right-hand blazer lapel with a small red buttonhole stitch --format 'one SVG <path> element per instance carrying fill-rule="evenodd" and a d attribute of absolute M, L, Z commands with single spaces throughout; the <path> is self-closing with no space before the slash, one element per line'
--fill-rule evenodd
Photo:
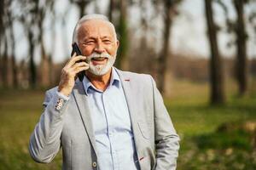
<path fill-rule="evenodd" d="M 140 147 L 139 144 L 141 144 L 141 142 L 139 141 L 139 138 L 137 138 L 139 136 L 139 131 L 138 131 L 138 119 L 139 119 L 139 115 L 137 114 L 137 100 L 136 100 L 136 96 L 137 96 L 137 92 L 132 89 L 131 86 L 131 77 L 126 77 L 125 75 L 122 74 L 121 71 L 117 70 L 120 77 L 120 80 L 122 82 L 122 87 L 124 89 L 124 93 L 125 93 L 125 99 L 128 105 L 128 109 L 130 112 L 130 117 L 131 117 L 131 127 L 132 127 L 132 131 L 133 131 L 133 137 L 134 137 L 134 141 L 135 141 L 135 145 L 137 148 L 137 152 Z"/>

